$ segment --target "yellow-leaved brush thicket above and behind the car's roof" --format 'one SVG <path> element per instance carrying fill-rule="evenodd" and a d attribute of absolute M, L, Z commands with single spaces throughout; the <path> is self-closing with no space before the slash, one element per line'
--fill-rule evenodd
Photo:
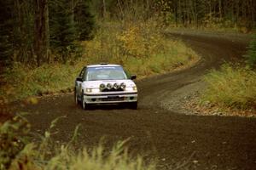
<path fill-rule="evenodd" d="M 166 38 L 161 33 L 160 26 L 155 20 L 141 21 L 137 23 L 100 23 L 101 28 L 97 31 L 92 41 L 82 42 L 86 53 L 84 57 L 94 56 L 96 60 L 108 63 L 126 64 L 127 60 L 147 59 L 157 55 L 168 56 L 169 59 L 183 59 L 184 54 L 172 55 L 173 51 L 188 49 L 182 42 L 175 42 Z M 178 47 L 172 47 L 172 42 Z M 182 44 L 182 45 L 180 45 Z M 172 48 L 172 49 L 170 49 Z M 195 57 L 195 53 L 191 53 Z M 170 63 L 172 67 L 172 64 Z"/>

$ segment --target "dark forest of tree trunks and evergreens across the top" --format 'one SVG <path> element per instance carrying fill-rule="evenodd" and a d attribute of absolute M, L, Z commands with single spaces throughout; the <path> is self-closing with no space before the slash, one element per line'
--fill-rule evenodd
<path fill-rule="evenodd" d="M 253 0 L 6 0 L 0 2 L 1 65 L 76 60 L 103 21 L 161 26 L 225 27 L 247 33 L 256 26 Z M 106 24 L 105 24 L 106 26 Z"/>

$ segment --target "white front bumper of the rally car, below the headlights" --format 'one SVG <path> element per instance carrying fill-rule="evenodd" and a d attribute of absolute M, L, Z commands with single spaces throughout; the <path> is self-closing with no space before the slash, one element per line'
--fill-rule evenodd
<path fill-rule="evenodd" d="M 84 94 L 86 104 L 115 104 L 137 102 L 137 93 L 127 94 Z"/>

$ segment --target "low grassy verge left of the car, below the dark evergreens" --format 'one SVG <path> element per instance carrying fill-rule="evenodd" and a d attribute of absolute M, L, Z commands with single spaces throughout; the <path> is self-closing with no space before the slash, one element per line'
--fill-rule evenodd
<path fill-rule="evenodd" d="M 14 101 L 31 95 L 67 90 L 72 88 L 80 69 L 74 65 L 52 64 L 32 68 L 15 63 L 3 75 L 6 85 L 0 89 L 0 94 Z"/>

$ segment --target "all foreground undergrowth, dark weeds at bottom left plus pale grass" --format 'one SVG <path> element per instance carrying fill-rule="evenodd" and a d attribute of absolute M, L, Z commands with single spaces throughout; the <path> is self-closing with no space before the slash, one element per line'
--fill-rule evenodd
<path fill-rule="evenodd" d="M 76 127 L 67 144 L 54 144 L 53 121 L 38 142 L 31 142 L 32 133 L 26 119 L 15 116 L 0 126 L 0 169 L 84 169 L 84 170 L 154 170 L 154 163 L 145 163 L 142 156 L 133 156 L 119 141 L 107 150 L 102 144 L 94 148 L 75 149 L 73 144 L 79 133 Z"/>

